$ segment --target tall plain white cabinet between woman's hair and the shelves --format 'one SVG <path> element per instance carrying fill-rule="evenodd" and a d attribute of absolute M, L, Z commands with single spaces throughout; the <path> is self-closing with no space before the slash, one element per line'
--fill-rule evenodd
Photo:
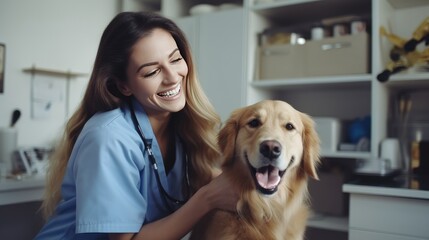
<path fill-rule="evenodd" d="M 242 8 L 175 20 L 190 41 L 198 78 L 222 120 L 245 105 Z"/>

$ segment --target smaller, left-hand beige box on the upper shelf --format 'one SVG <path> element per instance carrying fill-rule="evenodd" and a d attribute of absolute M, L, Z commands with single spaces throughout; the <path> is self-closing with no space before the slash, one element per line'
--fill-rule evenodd
<path fill-rule="evenodd" d="M 304 76 L 305 45 L 281 44 L 259 49 L 259 79 Z"/>

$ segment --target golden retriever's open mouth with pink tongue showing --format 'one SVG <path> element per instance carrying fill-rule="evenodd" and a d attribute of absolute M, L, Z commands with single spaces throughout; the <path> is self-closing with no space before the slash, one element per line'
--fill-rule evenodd
<path fill-rule="evenodd" d="M 279 168 L 272 165 L 254 168 L 250 165 L 249 160 L 247 160 L 247 164 L 250 167 L 256 188 L 259 192 L 266 195 L 271 195 L 277 192 L 277 187 L 280 184 L 285 170 L 280 171 Z"/>

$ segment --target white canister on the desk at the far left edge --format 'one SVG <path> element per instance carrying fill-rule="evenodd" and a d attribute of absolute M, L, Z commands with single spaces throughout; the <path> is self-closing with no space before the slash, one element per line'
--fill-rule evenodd
<path fill-rule="evenodd" d="M 5 177 L 12 171 L 13 153 L 18 144 L 16 128 L 0 128 L 0 175 Z"/>

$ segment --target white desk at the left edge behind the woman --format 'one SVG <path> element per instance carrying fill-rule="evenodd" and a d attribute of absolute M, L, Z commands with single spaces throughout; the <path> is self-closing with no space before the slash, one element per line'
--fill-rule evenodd
<path fill-rule="evenodd" d="M 21 180 L 0 178 L 0 205 L 40 201 L 44 188 L 44 176 L 29 176 Z"/>

